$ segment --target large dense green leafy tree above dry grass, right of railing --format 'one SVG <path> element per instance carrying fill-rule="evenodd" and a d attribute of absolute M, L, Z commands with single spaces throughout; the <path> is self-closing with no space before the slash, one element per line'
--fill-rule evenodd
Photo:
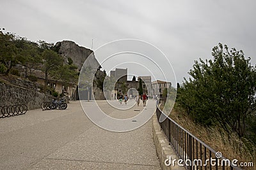
<path fill-rule="evenodd" d="M 220 125 L 244 136 L 246 118 L 255 110 L 256 71 L 242 51 L 219 43 L 213 60 L 195 61 L 179 89 L 178 102 L 195 122 Z"/>

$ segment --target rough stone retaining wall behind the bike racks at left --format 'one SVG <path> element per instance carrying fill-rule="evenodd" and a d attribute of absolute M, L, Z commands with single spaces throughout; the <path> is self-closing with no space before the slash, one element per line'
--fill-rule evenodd
<path fill-rule="evenodd" d="M 41 103 L 51 101 L 52 97 L 35 89 L 25 89 L 11 83 L 0 83 L 0 106 L 26 104 L 28 110 L 40 108 Z"/>

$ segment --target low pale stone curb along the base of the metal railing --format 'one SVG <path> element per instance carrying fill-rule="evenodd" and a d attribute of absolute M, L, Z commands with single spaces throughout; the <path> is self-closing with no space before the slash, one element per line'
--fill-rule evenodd
<path fill-rule="evenodd" d="M 179 157 L 177 157 L 176 153 L 173 151 L 172 147 L 169 145 L 168 139 L 166 139 L 166 136 L 164 136 L 163 132 L 161 131 L 161 127 L 159 123 L 157 122 L 156 113 L 153 115 L 153 139 L 154 144 L 156 147 L 157 157 L 159 158 L 160 166 L 164 170 L 169 169 L 175 169 L 175 170 L 184 170 L 185 167 L 180 167 L 175 164 L 175 166 L 166 166 L 164 164 L 164 160 L 169 159 L 169 157 L 172 157 L 173 159 L 178 160 Z M 177 163 L 177 162 L 176 162 Z"/>

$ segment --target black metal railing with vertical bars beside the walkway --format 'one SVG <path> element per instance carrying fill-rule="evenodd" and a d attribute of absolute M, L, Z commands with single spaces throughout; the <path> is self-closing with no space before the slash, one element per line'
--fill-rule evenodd
<path fill-rule="evenodd" d="M 161 100 L 159 102 L 161 103 Z M 161 114 L 163 115 L 161 116 Z M 236 160 L 229 160 L 223 157 L 220 152 L 216 152 L 171 118 L 164 115 L 158 106 L 156 115 L 158 121 L 160 116 L 164 116 L 164 121 L 159 122 L 161 130 L 168 138 L 170 145 L 179 159 L 182 160 L 182 164 L 186 169 L 241 169 L 237 167 L 239 164 Z"/>

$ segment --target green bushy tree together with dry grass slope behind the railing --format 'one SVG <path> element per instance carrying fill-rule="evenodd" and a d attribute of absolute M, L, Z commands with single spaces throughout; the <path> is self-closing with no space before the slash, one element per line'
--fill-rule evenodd
<path fill-rule="evenodd" d="M 195 61 L 170 117 L 226 157 L 256 163 L 255 66 L 221 43 L 212 57 Z"/>

